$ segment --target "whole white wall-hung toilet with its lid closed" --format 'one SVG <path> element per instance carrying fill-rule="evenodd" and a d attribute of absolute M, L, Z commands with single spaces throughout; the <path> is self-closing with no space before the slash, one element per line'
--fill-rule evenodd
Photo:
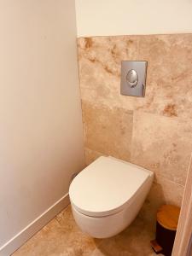
<path fill-rule="evenodd" d="M 70 185 L 76 223 L 96 238 L 117 235 L 136 218 L 153 179 L 153 172 L 140 166 L 101 156 Z"/>

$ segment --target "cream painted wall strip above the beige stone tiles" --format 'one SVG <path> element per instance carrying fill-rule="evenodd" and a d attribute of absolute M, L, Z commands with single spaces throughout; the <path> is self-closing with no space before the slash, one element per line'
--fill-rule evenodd
<path fill-rule="evenodd" d="M 191 0 L 76 0 L 78 36 L 192 32 Z"/>

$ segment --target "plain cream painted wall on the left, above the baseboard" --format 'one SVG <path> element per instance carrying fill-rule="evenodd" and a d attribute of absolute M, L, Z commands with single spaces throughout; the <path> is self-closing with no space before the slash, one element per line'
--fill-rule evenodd
<path fill-rule="evenodd" d="M 0 247 L 84 166 L 78 80 L 74 1 L 1 0 Z"/>

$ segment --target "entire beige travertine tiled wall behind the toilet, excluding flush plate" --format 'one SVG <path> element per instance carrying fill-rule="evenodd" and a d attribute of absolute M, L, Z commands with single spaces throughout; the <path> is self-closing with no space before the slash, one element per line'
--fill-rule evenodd
<path fill-rule="evenodd" d="M 101 154 L 155 172 L 143 207 L 181 205 L 192 149 L 192 34 L 79 38 L 86 162 Z M 120 95 L 120 62 L 148 61 L 144 98 Z M 146 210 L 146 211 L 145 211 Z"/>

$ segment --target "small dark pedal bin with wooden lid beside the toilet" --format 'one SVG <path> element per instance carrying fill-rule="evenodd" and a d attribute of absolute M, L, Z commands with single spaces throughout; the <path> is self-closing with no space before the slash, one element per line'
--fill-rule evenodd
<path fill-rule="evenodd" d="M 163 205 L 157 212 L 156 239 L 151 241 L 155 253 L 172 256 L 180 208 Z"/>

